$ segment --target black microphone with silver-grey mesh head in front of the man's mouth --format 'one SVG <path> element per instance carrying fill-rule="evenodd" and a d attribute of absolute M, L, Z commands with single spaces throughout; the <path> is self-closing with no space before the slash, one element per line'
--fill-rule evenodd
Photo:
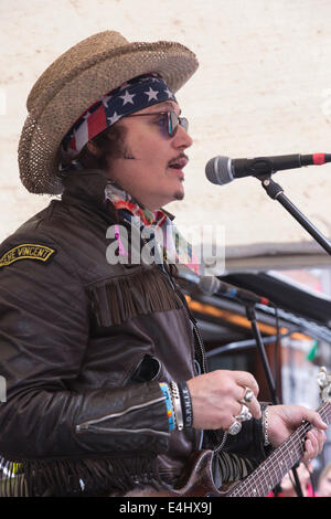
<path fill-rule="evenodd" d="M 331 162 L 331 153 L 279 155 L 252 159 L 214 157 L 206 163 L 205 174 L 210 182 L 223 186 L 243 177 L 263 178 L 285 169 L 321 166 L 327 162 Z"/>

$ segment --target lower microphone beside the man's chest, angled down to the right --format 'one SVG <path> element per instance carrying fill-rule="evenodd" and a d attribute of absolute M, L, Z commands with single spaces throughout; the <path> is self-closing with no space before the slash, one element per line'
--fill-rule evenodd
<path fill-rule="evenodd" d="M 274 305 L 266 297 L 258 296 L 254 292 L 237 288 L 228 283 L 221 282 L 216 276 L 197 276 L 185 266 L 179 266 L 179 276 L 193 283 L 206 296 L 223 295 L 231 299 L 237 299 L 244 304 Z"/>

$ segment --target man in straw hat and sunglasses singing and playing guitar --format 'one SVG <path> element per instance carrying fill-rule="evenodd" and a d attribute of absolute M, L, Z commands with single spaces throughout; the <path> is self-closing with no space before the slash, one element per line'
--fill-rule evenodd
<path fill-rule="evenodd" d="M 317 413 L 268 406 L 261 416 L 252 374 L 206 372 L 162 261 L 178 234 L 161 206 L 183 198 L 192 145 L 174 93 L 196 67 L 178 43 L 106 31 L 60 56 L 30 93 L 21 179 L 31 192 L 63 194 L 0 250 L 9 494 L 164 492 L 201 448 L 217 451 L 215 474 L 232 480 L 302 419 L 316 427 L 305 456 L 322 448 Z M 160 243 L 146 229 L 172 234 Z M 134 261 L 137 244 L 154 261 Z"/>

